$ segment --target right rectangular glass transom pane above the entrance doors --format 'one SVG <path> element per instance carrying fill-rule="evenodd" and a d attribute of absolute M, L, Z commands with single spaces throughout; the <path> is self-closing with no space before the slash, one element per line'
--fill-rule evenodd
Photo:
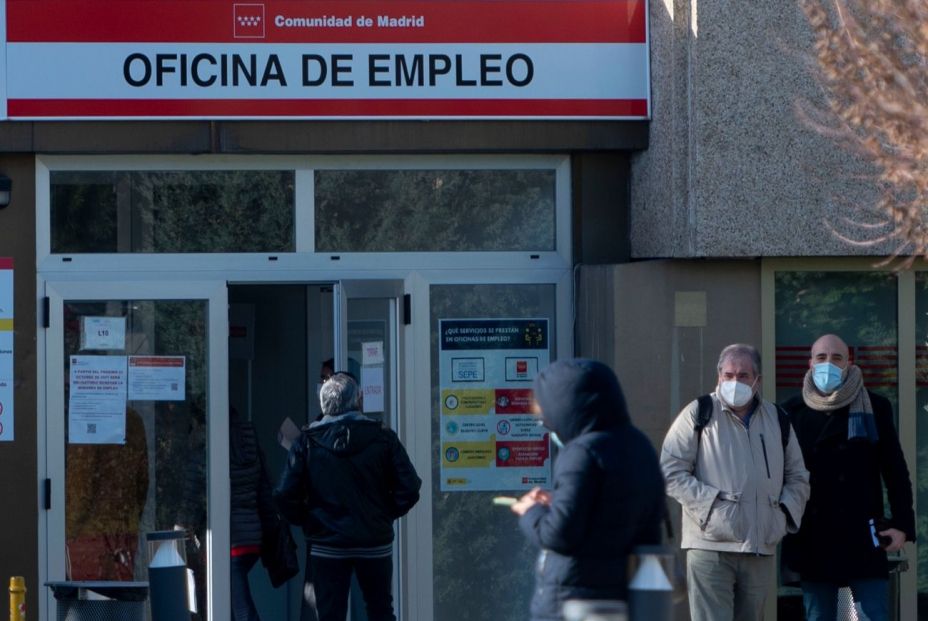
<path fill-rule="evenodd" d="M 320 170 L 321 252 L 555 249 L 553 170 Z"/>

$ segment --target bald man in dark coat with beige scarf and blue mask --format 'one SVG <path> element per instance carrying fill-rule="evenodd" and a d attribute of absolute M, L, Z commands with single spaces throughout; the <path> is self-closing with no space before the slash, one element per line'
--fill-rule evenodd
<path fill-rule="evenodd" d="M 802 394 L 783 407 L 811 473 L 802 527 L 783 544 L 786 566 L 800 574 L 806 619 L 833 621 L 838 589 L 849 586 L 868 619 L 885 621 L 886 553 L 915 541 L 912 484 L 892 406 L 864 387 L 845 342 L 826 334 L 812 346 Z"/>

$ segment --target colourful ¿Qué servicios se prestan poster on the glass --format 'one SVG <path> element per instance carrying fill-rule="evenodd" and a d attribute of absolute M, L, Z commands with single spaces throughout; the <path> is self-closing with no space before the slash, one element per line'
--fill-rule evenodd
<path fill-rule="evenodd" d="M 548 320 L 442 319 L 439 331 L 441 490 L 547 487 L 551 445 L 531 406 Z"/>

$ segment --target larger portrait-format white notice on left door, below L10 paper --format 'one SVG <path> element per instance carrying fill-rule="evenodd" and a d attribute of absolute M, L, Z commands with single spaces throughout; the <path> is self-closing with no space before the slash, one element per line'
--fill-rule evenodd
<path fill-rule="evenodd" d="M 125 356 L 71 356 L 68 442 L 126 443 Z"/>

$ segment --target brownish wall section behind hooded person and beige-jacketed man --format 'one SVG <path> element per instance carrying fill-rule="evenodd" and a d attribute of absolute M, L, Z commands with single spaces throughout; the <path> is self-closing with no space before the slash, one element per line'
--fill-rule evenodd
<path fill-rule="evenodd" d="M 679 410 L 714 389 L 722 348 L 735 342 L 760 347 L 760 297 L 759 261 L 582 267 L 577 355 L 615 369 L 632 420 L 660 450 Z M 679 506 L 668 500 L 668 507 L 679 533 Z M 771 602 L 775 607 L 775 598 Z M 689 618 L 685 598 L 675 600 L 674 618 Z"/>

